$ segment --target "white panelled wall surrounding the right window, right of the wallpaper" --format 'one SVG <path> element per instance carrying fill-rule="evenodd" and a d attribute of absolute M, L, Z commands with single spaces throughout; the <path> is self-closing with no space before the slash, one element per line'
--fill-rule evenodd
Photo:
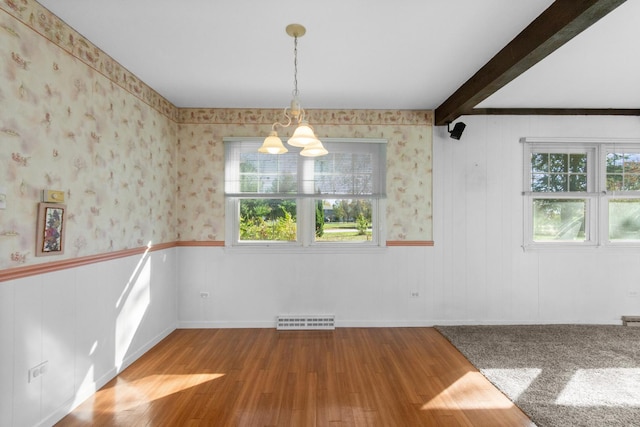
<path fill-rule="evenodd" d="M 524 252 L 521 137 L 640 137 L 638 117 L 470 116 L 434 131 L 427 318 L 450 323 L 620 323 L 640 314 L 640 249 Z"/>

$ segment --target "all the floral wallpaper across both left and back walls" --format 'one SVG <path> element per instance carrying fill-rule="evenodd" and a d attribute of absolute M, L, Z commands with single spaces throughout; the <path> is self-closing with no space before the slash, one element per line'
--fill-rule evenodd
<path fill-rule="evenodd" d="M 0 0 L 0 34 L 0 269 L 224 240 L 222 139 L 282 110 L 178 109 L 33 0 Z M 431 240 L 433 113 L 307 113 L 321 138 L 389 141 L 387 240 Z M 65 193 L 66 238 L 39 258 L 44 189 Z"/>

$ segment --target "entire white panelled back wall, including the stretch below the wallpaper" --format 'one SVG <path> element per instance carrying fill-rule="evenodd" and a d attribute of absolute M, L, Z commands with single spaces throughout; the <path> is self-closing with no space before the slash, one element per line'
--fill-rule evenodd
<path fill-rule="evenodd" d="M 182 327 L 607 323 L 640 314 L 640 250 L 524 252 L 521 137 L 640 137 L 637 117 L 464 117 L 434 131 L 434 247 L 363 254 L 181 248 Z M 418 298 L 410 293 L 418 291 Z M 209 292 L 207 299 L 200 292 Z M 637 294 L 636 294 L 637 295 Z"/>

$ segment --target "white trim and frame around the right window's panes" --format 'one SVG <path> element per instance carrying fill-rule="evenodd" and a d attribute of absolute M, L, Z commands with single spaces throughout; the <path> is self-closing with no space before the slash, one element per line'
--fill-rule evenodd
<path fill-rule="evenodd" d="M 637 138 L 521 138 L 523 143 L 523 249 L 611 249 L 638 248 L 640 241 L 609 240 L 608 200 L 616 196 L 640 197 L 640 191 L 626 191 L 623 194 L 606 190 L 606 153 L 624 149 L 640 152 L 640 139 Z M 587 152 L 588 171 L 587 192 L 546 193 L 527 190 L 531 183 L 531 153 L 537 150 L 545 152 Z M 536 198 L 585 199 L 587 212 L 585 222 L 588 224 L 588 236 L 584 242 L 535 242 L 533 241 L 532 204 Z"/>

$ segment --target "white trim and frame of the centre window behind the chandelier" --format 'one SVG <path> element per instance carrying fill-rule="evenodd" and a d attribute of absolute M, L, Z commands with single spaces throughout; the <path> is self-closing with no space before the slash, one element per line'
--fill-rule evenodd
<path fill-rule="evenodd" d="M 224 142 L 262 142 L 260 137 L 225 137 Z M 283 138 L 286 143 L 286 140 Z M 359 144 L 387 144 L 386 139 L 379 138 L 323 138 L 326 143 L 359 143 Z M 382 159 L 386 163 L 386 159 Z M 226 166 L 226 154 L 225 154 Z M 385 168 L 386 173 L 386 168 Z M 324 198 L 341 198 L 340 196 L 321 195 Z M 250 198 L 250 196 L 248 196 Z M 278 195 L 274 197 L 279 198 Z M 344 197 L 350 198 L 350 197 Z M 351 197 L 352 198 L 352 197 Z M 227 196 L 225 194 L 225 249 L 229 251 L 241 251 L 244 253 L 261 252 L 268 250 L 270 253 L 299 253 L 301 248 L 310 253 L 359 253 L 378 251 L 386 247 L 386 230 L 384 219 L 386 212 L 386 197 L 370 197 L 371 199 L 371 241 L 356 242 L 316 242 L 313 239 L 315 233 L 315 201 L 314 197 L 292 197 L 296 200 L 298 222 L 296 241 L 240 241 L 239 210 L 241 197 Z M 367 197 L 367 199 L 369 199 Z M 375 228 L 375 230 L 374 230 Z"/>

